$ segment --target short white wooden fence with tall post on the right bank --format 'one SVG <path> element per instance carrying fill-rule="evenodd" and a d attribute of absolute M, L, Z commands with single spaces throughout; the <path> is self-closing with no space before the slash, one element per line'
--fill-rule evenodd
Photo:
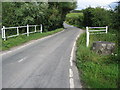
<path fill-rule="evenodd" d="M 89 29 L 93 29 L 93 28 L 99 28 L 101 30 L 89 30 Z M 98 33 L 94 33 L 94 32 L 98 32 Z M 106 27 L 86 27 L 86 46 L 88 47 L 89 46 L 89 36 L 90 34 L 104 34 L 104 33 L 107 33 L 108 32 L 108 26 Z"/>

